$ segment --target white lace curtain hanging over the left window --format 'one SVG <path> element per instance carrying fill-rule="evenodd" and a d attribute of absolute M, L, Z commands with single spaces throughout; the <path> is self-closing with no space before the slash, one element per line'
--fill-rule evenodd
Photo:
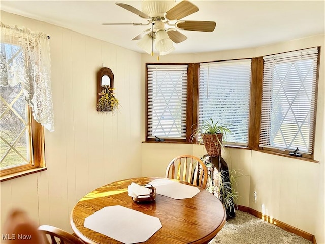
<path fill-rule="evenodd" d="M 34 119 L 54 131 L 50 46 L 46 34 L 1 23 L 0 86 L 20 83 Z"/>

